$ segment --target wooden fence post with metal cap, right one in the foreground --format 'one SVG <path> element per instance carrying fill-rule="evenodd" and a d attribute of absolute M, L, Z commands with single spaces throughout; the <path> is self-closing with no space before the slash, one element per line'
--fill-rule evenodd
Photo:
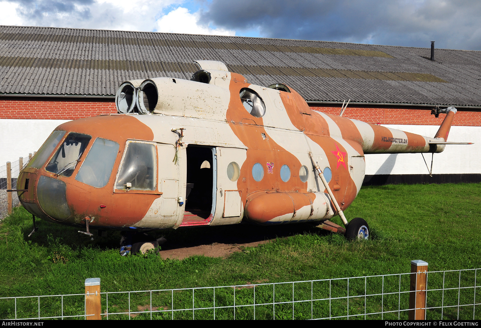
<path fill-rule="evenodd" d="M 426 316 L 426 281 L 428 262 L 411 261 L 411 284 L 409 288 L 409 320 L 424 320 Z"/>

